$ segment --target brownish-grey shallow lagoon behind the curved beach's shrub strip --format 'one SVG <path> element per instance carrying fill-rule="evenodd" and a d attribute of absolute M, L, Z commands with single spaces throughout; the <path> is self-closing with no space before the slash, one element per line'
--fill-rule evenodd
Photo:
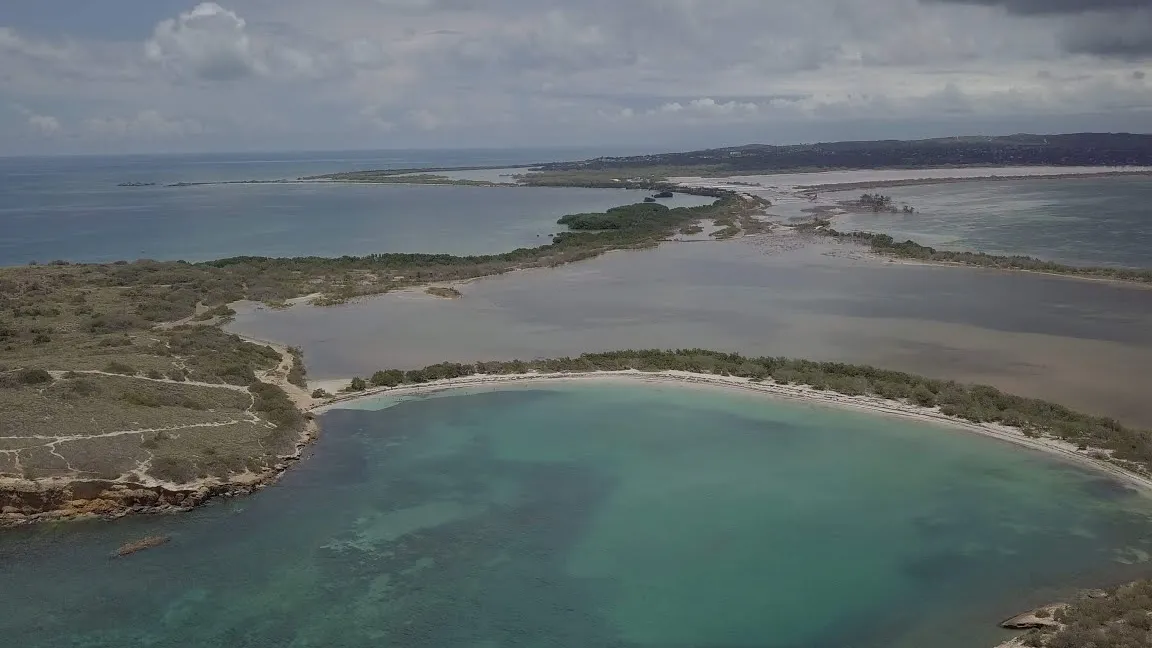
<path fill-rule="evenodd" d="M 1152 425 L 1152 291 L 889 263 L 851 246 L 669 243 L 334 308 L 242 309 L 232 330 L 300 345 L 312 378 L 441 361 L 704 347 L 993 384 Z"/>

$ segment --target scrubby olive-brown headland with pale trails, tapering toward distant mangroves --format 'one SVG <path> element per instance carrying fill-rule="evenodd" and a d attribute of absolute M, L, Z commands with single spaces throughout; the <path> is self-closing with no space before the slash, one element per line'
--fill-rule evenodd
<path fill-rule="evenodd" d="M 132 473 L 179 482 L 268 466 L 298 438 L 303 419 L 282 390 L 260 379 L 281 363 L 280 353 L 219 327 L 235 314 L 229 303 L 282 303 L 314 294 L 320 303 L 340 303 L 647 247 L 695 220 L 757 223 L 759 203 L 702 193 L 717 197 L 715 204 L 613 210 L 600 214 L 612 221 L 605 231 L 579 228 L 576 221 L 596 216 L 581 214 L 570 219 L 577 228 L 548 244 L 500 255 L 2 268 L 0 476 Z M 301 352 L 288 353 L 294 363 L 286 379 L 305 387 Z M 367 380 L 356 386 L 366 389 Z M 29 436 L 44 438 L 20 439 Z"/>

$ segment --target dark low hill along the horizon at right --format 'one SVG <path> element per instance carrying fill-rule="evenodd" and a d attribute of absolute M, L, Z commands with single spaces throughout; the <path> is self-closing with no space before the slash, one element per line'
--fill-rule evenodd
<path fill-rule="evenodd" d="M 774 146 L 748 144 L 683 153 L 597 158 L 544 165 L 547 171 L 651 166 L 708 167 L 712 172 L 949 166 L 1152 166 L 1152 135 L 1077 133 L 828 142 Z"/>

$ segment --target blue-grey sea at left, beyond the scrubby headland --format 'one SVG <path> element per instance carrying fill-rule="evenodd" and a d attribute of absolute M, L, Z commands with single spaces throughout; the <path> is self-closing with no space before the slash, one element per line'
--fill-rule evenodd
<path fill-rule="evenodd" d="M 547 242 L 619 189 L 209 184 L 369 168 L 517 165 L 590 151 L 382 151 L 0 158 L 0 265 L 238 255 L 493 254 Z M 154 187 L 118 187 L 154 182 Z M 700 204 L 685 196 L 672 202 Z"/>

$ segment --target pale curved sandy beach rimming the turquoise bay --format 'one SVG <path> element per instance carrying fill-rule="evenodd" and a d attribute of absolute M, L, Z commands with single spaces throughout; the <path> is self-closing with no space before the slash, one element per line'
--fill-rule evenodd
<path fill-rule="evenodd" d="M 1013 445 L 1017 445 L 1021 447 L 1026 447 L 1033 451 L 1044 452 L 1046 454 L 1056 457 L 1059 459 L 1062 459 L 1071 464 L 1076 464 L 1078 466 L 1090 467 L 1096 470 L 1106 473 L 1109 476 L 1114 477 L 1115 480 L 1127 485 L 1134 487 L 1142 492 L 1152 493 L 1152 476 L 1142 475 L 1131 470 L 1127 470 L 1114 464 L 1096 459 L 1094 457 L 1092 457 L 1092 454 L 1097 453 L 1106 454 L 1105 451 L 1091 447 L 1085 450 L 1079 450 L 1075 444 L 1056 438 L 1028 437 L 1021 429 L 1013 428 L 1010 425 L 1005 425 L 1001 423 L 973 423 L 971 421 L 965 421 L 963 419 L 945 415 L 939 410 L 939 408 L 922 407 L 918 405 L 911 405 L 902 401 L 887 400 L 879 397 L 847 395 L 832 391 L 816 390 L 808 385 L 782 385 L 771 380 L 757 383 L 748 378 L 737 378 L 733 376 L 714 376 L 707 374 L 691 374 L 687 371 L 645 372 L 645 371 L 629 370 L 629 371 L 588 371 L 588 372 L 573 372 L 573 374 L 510 374 L 510 375 L 493 375 L 493 376 L 477 375 L 477 376 L 468 376 L 464 378 L 452 378 L 447 380 L 424 383 L 420 385 L 371 389 L 364 392 L 358 392 L 356 394 L 336 397 L 335 399 L 332 399 L 321 405 L 312 407 L 310 412 L 313 412 L 316 414 L 323 414 L 324 412 L 331 409 L 340 409 L 342 405 L 348 402 L 373 397 L 382 397 L 382 395 L 417 397 L 417 395 L 426 395 L 435 392 L 464 389 L 464 387 L 490 386 L 499 389 L 517 384 L 530 384 L 538 382 L 575 382 L 575 380 L 597 380 L 597 382 L 624 380 L 624 382 L 643 382 L 652 384 L 675 384 L 675 385 L 691 385 L 691 386 L 711 387 L 711 389 L 740 390 L 745 392 L 764 394 L 772 398 L 808 402 L 817 406 L 855 409 L 859 412 L 866 412 L 870 414 L 899 416 L 901 419 L 909 419 L 914 421 L 919 421 L 922 423 L 947 425 L 954 429 L 962 429 L 969 432 L 975 432 L 978 435 L 999 439 L 1001 442 L 1010 443 Z M 348 384 L 347 380 L 324 382 L 324 384 L 329 387 L 336 383 L 343 385 Z"/>

